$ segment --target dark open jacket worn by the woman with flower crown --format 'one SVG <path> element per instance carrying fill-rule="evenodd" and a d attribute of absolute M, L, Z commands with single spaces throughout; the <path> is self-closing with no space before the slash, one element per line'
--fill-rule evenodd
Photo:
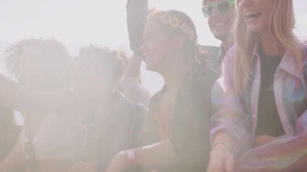
<path fill-rule="evenodd" d="M 178 159 L 176 164 L 163 166 L 160 171 L 206 171 L 210 153 L 211 88 L 218 73 L 203 67 L 193 68 L 181 83 L 171 126 L 170 140 Z M 157 126 L 155 114 L 165 89 L 150 101 L 147 127 Z M 144 139 L 146 144 L 159 141 L 157 130 Z"/>

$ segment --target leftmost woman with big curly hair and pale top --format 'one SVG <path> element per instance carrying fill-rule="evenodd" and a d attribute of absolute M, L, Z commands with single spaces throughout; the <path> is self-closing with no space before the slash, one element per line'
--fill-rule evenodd
<path fill-rule="evenodd" d="M 9 71 L 29 91 L 53 92 L 69 87 L 70 55 L 54 39 L 21 40 L 7 49 L 6 60 Z M 0 168 L 10 171 L 25 163 L 27 171 L 66 171 L 71 164 L 73 120 L 68 119 L 68 112 L 50 112 L 39 105 L 19 109 L 24 117 L 20 139 Z"/>

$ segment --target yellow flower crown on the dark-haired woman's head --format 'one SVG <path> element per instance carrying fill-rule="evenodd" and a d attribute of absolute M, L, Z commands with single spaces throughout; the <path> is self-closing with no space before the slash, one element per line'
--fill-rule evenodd
<path fill-rule="evenodd" d="M 196 33 L 194 30 L 189 28 L 187 24 L 182 23 L 179 18 L 171 16 L 168 12 L 154 10 L 147 16 L 147 21 L 151 19 L 158 19 L 172 28 L 178 28 L 186 34 L 190 40 L 196 40 Z"/>

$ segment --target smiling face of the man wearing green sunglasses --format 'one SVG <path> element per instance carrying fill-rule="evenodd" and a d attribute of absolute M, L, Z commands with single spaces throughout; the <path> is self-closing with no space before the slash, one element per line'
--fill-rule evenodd
<path fill-rule="evenodd" d="M 211 0 L 207 1 L 207 5 L 215 5 L 225 0 Z M 228 32 L 230 31 L 234 22 L 234 5 L 231 6 L 230 11 L 225 14 L 221 14 L 217 9 L 213 10 L 212 15 L 208 19 L 209 28 L 216 39 L 221 41 L 227 40 Z"/>

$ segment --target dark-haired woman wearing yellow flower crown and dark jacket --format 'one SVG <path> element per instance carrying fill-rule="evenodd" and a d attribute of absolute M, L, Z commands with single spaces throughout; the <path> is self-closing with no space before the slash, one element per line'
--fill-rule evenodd
<path fill-rule="evenodd" d="M 150 100 L 143 145 L 114 156 L 107 171 L 204 171 L 209 159 L 211 88 L 218 74 L 199 55 L 192 20 L 179 11 L 148 15 L 141 51 L 165 79 Z"/>

